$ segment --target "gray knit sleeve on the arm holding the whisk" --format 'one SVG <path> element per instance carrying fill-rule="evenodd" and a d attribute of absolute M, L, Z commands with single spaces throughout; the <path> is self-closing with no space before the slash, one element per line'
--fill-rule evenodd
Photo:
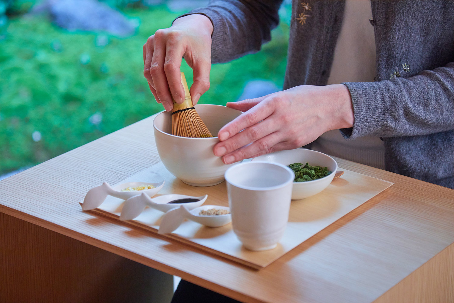
<path fill-rule="evenodd" d="M 260 50 L 279 24 L 282 0 L 211 0 L 191 14 L 207 16 L 213 24 L 211 61 L 224 63 Z"/>

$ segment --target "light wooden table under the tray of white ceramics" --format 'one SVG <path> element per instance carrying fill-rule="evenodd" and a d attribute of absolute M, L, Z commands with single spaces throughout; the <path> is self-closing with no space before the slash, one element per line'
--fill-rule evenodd
<path fill-rule="evenodd" d="M 336 159 L 341 168 L 395 184 L 260 271 L 82 212 L 78 201 L 90 188 L 115 184 L 159 162 L 152 121 L 153 116 L 0 182 L 4 290 L 4 283 L 20 280 L 11 268 L 21 264 L 15 256 L 22 249 L 30 256 L 70 245 L 65 249 L 71 253 L 39 258 L 91 264 L 91 271 L 108 270 L 121 258 L 122 270 L 138 274 L 137 283 L 141 263 L 242 302 L 454 302 L 454 190 L 343 159 Z M 37 229 L 50 234 L 40 242 Z M 11 240 L 16 232 L 21 244 Z M 33 241 L 41 247 L 25 247 Z M 72 261 L 64 261 L 68 256 Z M 33 274 L 21 286 L 23 293 L 36 292 L 43 279 L 58 282 L 52 274 L 42 277 L 44 268 L 30 263 Z M 75 290 L 53 289 L 54 301 L 46 302 L 58 302 L 59 296 L 79 302 L 78 289 L 84 302 L 94 300 L 81 273 L 59 274 L 69 276 Z M 1 302 L 14 301 L 11 289 L 0 291 Z"/>

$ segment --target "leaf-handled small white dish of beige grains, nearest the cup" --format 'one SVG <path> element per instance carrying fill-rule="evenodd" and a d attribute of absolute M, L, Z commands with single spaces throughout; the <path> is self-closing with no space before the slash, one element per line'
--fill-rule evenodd
<path fill-rule="evenodd" d="M 203 205 L 192 210 L 188 210 L 185 205 L 181 205 L 179 208 L 169 210 L 164 215 L 163 219 L 161 219 L 158 233 L 172 233 L 183 223 L 184 219 L 197 222 L 207 227 L 221 227 L 232 222 L 232 214 L 212 216 L 199 215 L 201 210 L 208 209 L 225 209 L 230 211 L 230 208 L 219 205 Z"/>

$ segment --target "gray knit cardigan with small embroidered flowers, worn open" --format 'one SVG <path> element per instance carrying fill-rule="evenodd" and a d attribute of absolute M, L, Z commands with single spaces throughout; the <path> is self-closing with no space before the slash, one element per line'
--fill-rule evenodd
<path fill-rule="evenodd" d="M 345 2 L 307 1 L 292 3 L 284 89 L 326 85 L 330 75 Z M 212 62 L 221 63 L 259 51 L 279 22 L 280 5 L 281 0 L 211 0 L 189 14 L 212 21 Z M 341 132 L 347 139 L 381 137 L 386 170 L 454 188 L 454 1 L 371 5 L 376 81 L 345 83 L 355 123 Z M 391 78 L 396 67 L 401 77 Z"/>

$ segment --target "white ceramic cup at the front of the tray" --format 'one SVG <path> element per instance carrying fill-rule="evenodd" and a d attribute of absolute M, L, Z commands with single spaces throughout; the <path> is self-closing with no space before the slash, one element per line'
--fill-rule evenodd
<path fill-rule="evenodd" d="M 295 174 L 265 161 L 236 164 L 225 173 L 233 231 L 248 250 L 275 248 L 284 234 Z"/>

